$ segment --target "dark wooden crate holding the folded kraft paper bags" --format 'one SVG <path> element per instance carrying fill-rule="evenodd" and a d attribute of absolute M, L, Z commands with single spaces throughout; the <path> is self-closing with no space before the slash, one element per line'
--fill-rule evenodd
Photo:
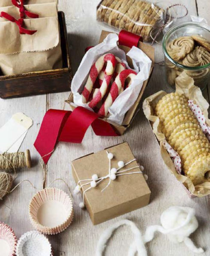
<path fill-rule="evenodd" d="M 26 74 L 0 75 L 0 98 L 60 93 L 70 90 L 72 70 L 69 58 L 65 15 L 58 12 L 63 68 Z"/>

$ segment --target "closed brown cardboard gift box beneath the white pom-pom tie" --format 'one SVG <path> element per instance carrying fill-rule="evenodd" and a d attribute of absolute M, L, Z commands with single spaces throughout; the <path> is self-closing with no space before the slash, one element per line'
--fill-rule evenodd
<path fill-rule="evenodd" d="M 78 158 L 72 161 L 72 174 L 75 181 L 91 179 L 93 174 L 97 174 L 98 177 L 106 176 L 109 170 L 107 151 L 114 155 L 111 160 L 111 168 L 118 168 L 117 163 L 120 160 L 127 163 L 135 158 L 127 142 Z M 138 163 L 135 160 L 121 170 L 137 166 Z M 141 171 L 139 167 L 125 173 L 138 171 Z M 151 192 L 142 173 L 117 176 L 117 179 L 111 180 L 108 188 L 102 192 L 101 190 L 108 182 L 109 179 L 105 179 L 96 188 L 91 188 L 85 193 L 85 206 L 93 224 L 130 212 L 149 203 Z M 87 182 L 81 182 L 81 184 L 84 183 Z M 90 185 L 82 187 L 82 192 L 88 187 Z"/>

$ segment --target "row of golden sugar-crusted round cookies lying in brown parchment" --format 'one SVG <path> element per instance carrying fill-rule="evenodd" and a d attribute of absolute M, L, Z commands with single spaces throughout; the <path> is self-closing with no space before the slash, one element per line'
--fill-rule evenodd
<path fill-rule="evenodd" d="M 177 93 L 162 97 L 155 108 L 162 133 L 180 155 L 182 169 L 194 185 L 210 181 L 210 142 L 188 106 L 188 99 Z"/>

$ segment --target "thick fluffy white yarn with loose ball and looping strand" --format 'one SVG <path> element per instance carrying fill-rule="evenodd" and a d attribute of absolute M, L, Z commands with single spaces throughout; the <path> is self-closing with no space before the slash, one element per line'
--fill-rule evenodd
<path fill-rule="evenodd" d="M 149 226 L 143 237 L 141 236 L 141 232 L 138 230 L 135 224 L 129 220 L 121 220 L 114 225 L 111 225 L 103 232 L 99 238 L 96 249 L 96 256 L 102 256 L 108 239 L 111 237 L 113 231 L 120 225 L 131 226 L 132 232 L 135 235 L 135 239 L 129 247 L 128 256 L 135 256 L 136 253 L 138 253 L 138 256 L 147 256 L 147 251 L 144 244 L 153 240 L 156 231 L 159 231 L 162 234 L 166 234 L 168 238 L 175 243 L 184 242 L 184 244 L 193 253 L 204 252 L 202 248 L 195 247 L 195 244 L 189 238 L 189 235 L 198 228 L 198 221 L 195 217 L 194 209 L 190 207 L 179 206 L 169 207 L 162 213 L 160 219 L 162 225 Z"/>

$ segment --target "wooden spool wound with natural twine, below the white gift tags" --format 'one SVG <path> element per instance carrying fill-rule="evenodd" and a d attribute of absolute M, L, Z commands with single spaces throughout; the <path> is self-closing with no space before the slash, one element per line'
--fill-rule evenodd
<path fill-rule="evenodd" d="M 16 168 L 28 167 L 31 168 L 30 151 L 17 153 L 0 154 L 0 169 L 11 170 Z"/>

